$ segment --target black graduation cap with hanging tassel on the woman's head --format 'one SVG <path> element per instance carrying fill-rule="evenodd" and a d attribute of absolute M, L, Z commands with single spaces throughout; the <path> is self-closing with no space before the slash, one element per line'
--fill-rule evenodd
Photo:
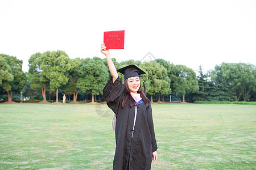
<path fill-rule="evenodd" d="M 139 69 L 139 67 L 137 67 L 135 65 L 129 65 L 129 66 L 123 67 L 121 69 L 118 69 L 117 71 L 119 73 L 122 73 L 123 75 L 125 75 L 125 80 L 130 77 L 139 76 L 141 74 L 146 74 L 144 71 L 142 71 L 141 69 Z M 144 87 L 144 94 L 147 96 L 144 79 L 143 79 L 143 87 Z"/>

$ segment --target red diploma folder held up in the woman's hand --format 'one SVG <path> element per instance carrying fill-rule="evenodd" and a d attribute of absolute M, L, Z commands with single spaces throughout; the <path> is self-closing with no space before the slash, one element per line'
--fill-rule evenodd
<path fill-rule="evenodd" d="M 106 49 L 124 49 L 125 30 L 104 32 L 104 43 Z"/>

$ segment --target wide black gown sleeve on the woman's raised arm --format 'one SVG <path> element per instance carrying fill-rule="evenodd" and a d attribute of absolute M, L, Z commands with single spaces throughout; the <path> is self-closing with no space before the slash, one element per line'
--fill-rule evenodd
<path fill-rule="evenodd" d="M 123 83 L 122 80 L 118 78 L 113 83 L 113 77 L 110 77 L 109 82 L 103 89 L 103 99 L 106 101 L 108 107 L 117 114 L 119 104 L 121 103 L 123 94 Z"/>

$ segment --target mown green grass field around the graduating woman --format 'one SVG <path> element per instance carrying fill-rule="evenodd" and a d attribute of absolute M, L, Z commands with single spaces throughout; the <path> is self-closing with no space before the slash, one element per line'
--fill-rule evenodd
<path fill-rule="evenodd" d="M 256 169 L 256 106 L 152 105 L 152 169 Z M 0 104 L 0 169 L 112 169 L 106 105 Z"/>

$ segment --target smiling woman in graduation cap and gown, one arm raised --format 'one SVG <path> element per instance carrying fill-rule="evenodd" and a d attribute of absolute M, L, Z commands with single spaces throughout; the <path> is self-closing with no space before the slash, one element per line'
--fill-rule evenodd
<path fill-rule="evenodd" d="M 101 45 L 112 77 L 103 90 L 108 107 L 115 113 L 115 156 L 113 169 L 150 169 L 158 159 L 150 100 L 144 95 L 139 75 L 144 71 L 135 65 L 116 70 L 109 50 Z M 117 71 L 124 74 L 125 82 Z"/>

